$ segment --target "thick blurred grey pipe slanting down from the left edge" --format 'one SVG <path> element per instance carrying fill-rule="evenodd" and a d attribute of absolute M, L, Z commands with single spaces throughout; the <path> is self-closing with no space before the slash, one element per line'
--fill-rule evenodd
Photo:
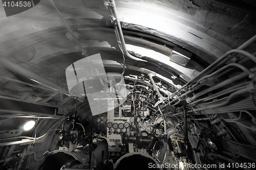
<path fill-rule="evenodd" d="M 47 86 L 51 89 L 59 91 L 59 85 L 36 74 L 35 72 L 24 68 L 23 66 L 20 66 L 4 57 L 0 57 L 0 65 L 4 67 L 5 69 L 16 72 L 18 75 L 26 77 L 30 80 L 33 80 L 34 82 L 40 83 L 41 85 Z M 62 89 L 62 92 L 69 93 L 67 89 Z"/>

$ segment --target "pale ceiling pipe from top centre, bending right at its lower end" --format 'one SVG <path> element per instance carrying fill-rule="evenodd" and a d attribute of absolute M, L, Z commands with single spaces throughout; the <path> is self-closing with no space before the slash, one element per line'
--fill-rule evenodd
<path fill-rule="evenodd" d="M 52 1 L 52 0 L 49 0 L 49 1 Z M 147 62 L 147 61 L 142 60 L 140 58 L 134 57 L 134 56 L 132 56 L 131 54 L 128 53 L 126 45 L 125 45 L 124 37 L 123 37 L 122 27 L 121 27 L 120 20 L 119 20 L 118 14 L 117 14 L 115 1 L 114 0 L 108 0 L 108 3 L 105 3 L 105 5 L 108 6 L 109 10 L 110 10 L 110 7 L 113 10 L 112 12 L 110 10 L 110 14 L 113 13 L 113 15 L 114 15 L 113 17 L 116 19 L 116 25 L 114 25 L 114 28 L 115 28 L 115 32 L 118 33 L 118 34 L 116 34 L 116 36 L 117 36 L 117 40 L 118 41 L 120 40 L 120 42 L 118 42 L 118 44 L 121 44 L 121 46 L 122 46 L 121 51 L 122 51 L 123 55 L 128 57 L 128 58 L 137 60 L 137 61 Z"/>

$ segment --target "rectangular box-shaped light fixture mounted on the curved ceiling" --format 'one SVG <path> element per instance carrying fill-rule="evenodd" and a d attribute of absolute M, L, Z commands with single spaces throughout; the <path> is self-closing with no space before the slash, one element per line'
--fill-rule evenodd
<path fill-rule="evenodd" d="M 175 46 L 173 48 L 172 54 L 170 54 L 169 60 L 179 65 L 185 66 L 190 60 L 191 56 L 192 56 L 192 53 L 189 53 L 183 50 L 182 48 Z"/>

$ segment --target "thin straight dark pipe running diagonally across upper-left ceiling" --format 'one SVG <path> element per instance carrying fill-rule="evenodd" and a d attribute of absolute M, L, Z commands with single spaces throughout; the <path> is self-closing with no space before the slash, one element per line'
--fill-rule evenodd
<path fill-rule="evenodd" d="M 62 22 L 64 23 L 64 25 L 66 26 L 66 28 L 69 30 L 69 33 L 72 35 L 72 38 L 75 40 L 76 44 L 79 46 L 82 55 L 86 55 L 87 52 L 83 49 L 82 45 L 80 44 L 80 42 L 77 40 L 75 34 L 73 33 L 73 31 L 71 30 L 71 28 L 69 27 L 68 23 L 66 22 L 65 18 L 61 15 L 61 13 L 59 12 L 58 8 L 56 7 L 56 5 L 54 4 L 54 2 L 52 0 L 48 0 L 49 3 L 51 4 L 51 6 L 53 7 L 53 9 L 57 12 L 59 18 L 62 20 Z"/>

